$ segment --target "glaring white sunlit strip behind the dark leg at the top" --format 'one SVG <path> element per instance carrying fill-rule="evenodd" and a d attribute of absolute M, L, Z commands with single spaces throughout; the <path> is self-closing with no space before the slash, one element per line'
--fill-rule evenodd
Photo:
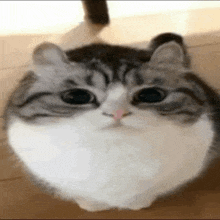
<path fill-rule="evenodd" d="M 219 1 L 107 2 L 111 19 L 220 8 Z M 83 16 L 81 1 L 1 1 L 0 35 L 65 33 L 82 22 Z M 187 33 L 187 14 L 179 22 Z"/>

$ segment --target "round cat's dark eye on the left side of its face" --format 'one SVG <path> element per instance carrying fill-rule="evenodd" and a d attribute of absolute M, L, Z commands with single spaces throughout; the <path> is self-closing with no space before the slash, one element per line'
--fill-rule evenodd
<path fill-rule="evenodd" d="M 94 101 L 95 97 L 85 89 L 72 89 L 61 94 L 61 99 L 72 105 L 83 105 Z"/>

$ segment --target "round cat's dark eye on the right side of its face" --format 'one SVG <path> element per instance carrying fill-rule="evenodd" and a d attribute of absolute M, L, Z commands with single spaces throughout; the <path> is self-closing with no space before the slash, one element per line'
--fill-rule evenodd
<path fill-rule="evenodd" d="M 138 102 L 155 103 L 161 102 L 165 97 L 166 93 L 162 89 L 145 88 L 136 94 L 135 100 Z"/>

